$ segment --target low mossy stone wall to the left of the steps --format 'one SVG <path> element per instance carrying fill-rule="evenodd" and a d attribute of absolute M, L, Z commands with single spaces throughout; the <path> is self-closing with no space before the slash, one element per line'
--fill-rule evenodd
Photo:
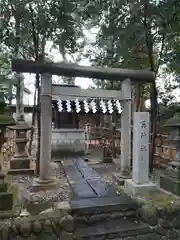
<path fill-rule="evenodd" d="M 74 220 L 70 208 L 63 203 L 40 215 L 0 220 L 0 239 L 73 240 Z"/>

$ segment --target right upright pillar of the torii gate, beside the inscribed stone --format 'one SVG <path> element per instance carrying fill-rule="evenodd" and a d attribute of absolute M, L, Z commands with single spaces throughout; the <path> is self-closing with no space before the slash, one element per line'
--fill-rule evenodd
<path fill-rule="evenodd" d="M 121 115 L 121 175 L 129 178 L 131 172 L 131 81 L 122 83 L 122 93 L 129 100 L 123 101 Z"/>

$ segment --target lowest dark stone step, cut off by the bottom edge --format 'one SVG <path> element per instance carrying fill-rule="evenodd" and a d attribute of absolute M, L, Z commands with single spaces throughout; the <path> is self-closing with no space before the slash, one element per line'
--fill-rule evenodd
<path fill-rule="evenodd" d="M 150 233 L 150 228 L 138 217 L 118 220 L 104 220 L 94 224 L 78 224 L 76 239 L 118 239 Z"/>

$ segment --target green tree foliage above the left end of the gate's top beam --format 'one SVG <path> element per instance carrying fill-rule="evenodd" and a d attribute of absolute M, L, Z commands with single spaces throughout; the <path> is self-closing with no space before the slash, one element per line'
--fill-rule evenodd
<path fill-rule="evenodd" d="M 82 35 L 80 21 L 74 20 L 74 1 L 1 1 L 0 36 L 6 46 L 25 58 L 44 54 L 47 41 L 53 41 L 62 55 L 79 47 L 76 40 Z M 18 33 L 17 33 L 18 31 Z M 35 44 L 34 44 L 35 43 Z"/>

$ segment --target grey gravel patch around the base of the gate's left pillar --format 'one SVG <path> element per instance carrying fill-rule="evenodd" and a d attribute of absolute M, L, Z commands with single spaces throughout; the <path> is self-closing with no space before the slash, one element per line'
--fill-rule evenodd
<path fill-rule="evenodd" d="M 13 183 L 21 186 L 25 200 L 36 203 L 66 201 L 69 198 L 70 188 L 67 183 L 61 164 L 51 163 L 53 175 L 60 181 L 59 189 L 49 191 L 32 191 L 33 176 L 13 176 Z"/>

